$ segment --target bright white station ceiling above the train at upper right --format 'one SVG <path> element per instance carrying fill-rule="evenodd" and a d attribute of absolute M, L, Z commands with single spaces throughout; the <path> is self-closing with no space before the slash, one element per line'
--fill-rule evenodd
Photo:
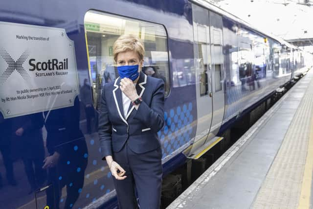
<path fill-rule="evenodd" d="M 313 0 L 208 1 L 285 40 L 313 40 Z"/>

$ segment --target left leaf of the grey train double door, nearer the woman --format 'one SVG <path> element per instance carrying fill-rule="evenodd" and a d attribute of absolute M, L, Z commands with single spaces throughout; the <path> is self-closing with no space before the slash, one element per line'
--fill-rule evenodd
<path fill-rule="evenodd" d="M 198 120 L 196 138 L 190 153 L 194 153 L 204 144 L 212 121 L 209 11 L 195 4 L 192 9 Z"/>

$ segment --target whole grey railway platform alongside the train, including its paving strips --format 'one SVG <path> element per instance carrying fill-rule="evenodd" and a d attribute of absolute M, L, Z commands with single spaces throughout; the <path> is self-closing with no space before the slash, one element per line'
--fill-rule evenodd
<path fill-rule="evenodd" d="M 313 209 L 313 70 L 167 209 Z"/>

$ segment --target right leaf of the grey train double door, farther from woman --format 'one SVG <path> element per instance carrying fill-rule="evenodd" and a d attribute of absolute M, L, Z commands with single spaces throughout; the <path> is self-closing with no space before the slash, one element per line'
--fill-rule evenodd
<path fill-rule="evenodd" d="M 223 56 L 223 20 L 222 16 L 210 11 L 211 72 L 213 94 L 213 116 L 210 135 L 216 136 L 224 117 L 224 56 Z"/>

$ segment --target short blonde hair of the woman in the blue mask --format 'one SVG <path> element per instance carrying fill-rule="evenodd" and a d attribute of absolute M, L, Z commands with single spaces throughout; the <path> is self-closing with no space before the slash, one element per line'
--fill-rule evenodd
<path fill-rule="evenodd" d="M 135 51 L 140 60 L 143 60 L 145 48 L 143 42 L 135 35 L 121 35 L 113 44 L 114 61 L 117 60 L 117 55 L 121 52 Z"/>

